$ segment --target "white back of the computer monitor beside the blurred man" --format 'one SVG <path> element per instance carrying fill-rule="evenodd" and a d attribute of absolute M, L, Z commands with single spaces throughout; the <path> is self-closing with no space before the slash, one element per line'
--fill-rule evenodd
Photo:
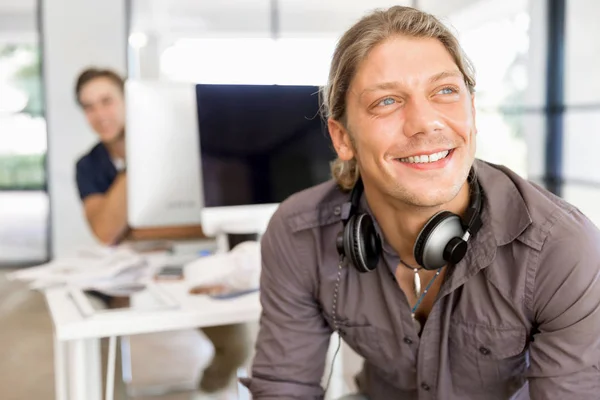
<path fill-rule="evenodd" d="M 125 103 L 129 225 L 199 225 L 203 198 L 195 84 L 129 80 Z"/>

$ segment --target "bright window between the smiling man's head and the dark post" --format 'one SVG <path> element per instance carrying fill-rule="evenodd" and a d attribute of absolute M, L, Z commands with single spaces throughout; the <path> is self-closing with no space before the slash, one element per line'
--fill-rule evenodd
<path fill-rule="evenodd" d="M 529 2 L 468 3 L 444 21 L 476 71 L 477 157 L 535 179 L 542 171 L 543 146 L 529 144 L 543 144 L 544 93 L 539 88 L 544 74 L 530 73 L 543 55 L 530 45 Z M 436 4 L 427 11 L 435 13 Z"/>

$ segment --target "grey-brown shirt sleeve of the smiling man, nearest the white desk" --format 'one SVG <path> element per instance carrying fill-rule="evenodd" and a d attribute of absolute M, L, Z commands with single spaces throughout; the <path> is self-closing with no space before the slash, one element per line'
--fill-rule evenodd
<path fill-rule="evenodd" d="M 261 240 L 260 330 L 252 378 L 242 379 L 254 400 L 322 399 L 332 330 L 315 298 L 309 232 L 294 234 L 275 213 Z"/>

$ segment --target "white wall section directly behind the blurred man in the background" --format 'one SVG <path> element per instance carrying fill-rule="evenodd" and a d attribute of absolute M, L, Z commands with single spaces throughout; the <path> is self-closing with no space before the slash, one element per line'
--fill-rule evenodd
<path fill-rule="evenodd" d="M 94 243 L 77 192 L 75 163 L 96 136 L 73 87 L 90 65 L 126 72 L 125 1 L 45 0 L 41 13 L 52 255 L 60 257 Z"/>

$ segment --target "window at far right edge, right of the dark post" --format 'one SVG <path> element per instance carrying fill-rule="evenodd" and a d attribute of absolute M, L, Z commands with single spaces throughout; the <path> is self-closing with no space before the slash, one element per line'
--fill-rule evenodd
<path fill-rule="evenodd" d="M 592 0 L 566 2 L 563 175 L 565 199 L 600 226 L 600 34 Z"/>

